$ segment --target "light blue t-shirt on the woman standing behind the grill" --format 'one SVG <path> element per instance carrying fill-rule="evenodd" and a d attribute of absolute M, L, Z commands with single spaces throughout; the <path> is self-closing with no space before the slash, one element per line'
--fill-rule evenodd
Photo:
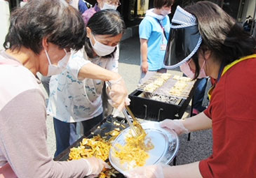
<path fill-rule="evenodd" d="M 157 20 L 154 17 L 146 16 L 140 22 L 139 34 L 140 38 L 147 39 L 147 61 L 149 64 L 149 71 L 157 71 L 163 68 L 163 59 L 166 50 L 161 50 L 161 45 L 167 45 L 168 39 L 163 34 L 163 29 L 166 31 L 168 38 L 170 32 L 170 19 L 168 16 L 163 20 Z"/>

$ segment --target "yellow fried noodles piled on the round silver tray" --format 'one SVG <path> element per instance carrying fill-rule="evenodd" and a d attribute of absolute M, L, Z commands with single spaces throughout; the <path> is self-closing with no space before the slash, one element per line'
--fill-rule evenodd
<path fill-rule="evenodd" d="M 154 149 L 150 138 L 146 138 L 147 134 L 138 121 L 133 121 L 135 130 L 139 136 L 133 134 L 126 135 L 126 144 L 116 144 L 114 148 L 114 156 L 120 159 L 120 163 L 128 163 L 128 167 L 137 167 L 145 165 L 149 154 L 147 151 Z M 146 143 L 145 143 L 146 142 Z"/>

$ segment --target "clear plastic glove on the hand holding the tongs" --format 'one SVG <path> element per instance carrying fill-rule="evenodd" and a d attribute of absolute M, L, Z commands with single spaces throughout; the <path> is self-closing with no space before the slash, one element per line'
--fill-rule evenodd
<path fill-rule="evenodd" d="M 126 89 L 126 84 L 122 77 L 119 80 L 109 80 L 109 102 L 117 110 L 123 110 L 125 105 L 129 105 L 130 101 L 128 98 L 128 91 Z"/>

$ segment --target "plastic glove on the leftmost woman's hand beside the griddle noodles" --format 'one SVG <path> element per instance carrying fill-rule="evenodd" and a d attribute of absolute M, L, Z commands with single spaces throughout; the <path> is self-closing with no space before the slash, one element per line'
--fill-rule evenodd
<path fill-rule="evenodd" d="M 86 176 L 90 175 L 90 177 L 97 177 L 103 168 L 110 169 L 110 166 L 101 159 L 91 157 L 83 160 L 86 161 L 88 165 L 86 167 L 88 169 Z"/>

